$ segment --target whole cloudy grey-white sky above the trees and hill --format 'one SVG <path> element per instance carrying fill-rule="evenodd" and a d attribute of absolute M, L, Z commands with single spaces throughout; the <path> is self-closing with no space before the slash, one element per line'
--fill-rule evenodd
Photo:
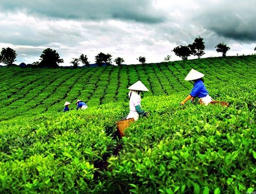
<path fill-rule="evenodd" d="M 16 64 L 39 61 L 50 47 L 71 65 L 72 58 L 109 53 L 125 64 L 181 60 L 179 45 L 204 39 L 205 57 L 221 56 L 215 46 L 230 47 L 227 56 L 255 53 L 256 0 L 1 0 L 0 49 L 11 47 Z M 195 57 L 189 57 L 193 59 Z"/>

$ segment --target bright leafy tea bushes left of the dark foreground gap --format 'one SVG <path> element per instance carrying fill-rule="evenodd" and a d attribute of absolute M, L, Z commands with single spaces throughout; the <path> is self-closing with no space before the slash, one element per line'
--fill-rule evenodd
<path fill-rule="evenodd" d="M 73 110 L 20 118 L 1 128 L 0 192 L 96 192 L 101 183 L 95 176 L 116 148 L 108 126 L 118 112 L 109 114 Z"/>

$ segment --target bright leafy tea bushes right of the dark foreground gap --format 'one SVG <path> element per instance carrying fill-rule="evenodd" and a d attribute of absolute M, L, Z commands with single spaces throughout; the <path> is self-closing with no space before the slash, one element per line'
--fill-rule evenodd
<path fill-rule="evenodd" d="M 233 193 L 253 187 L 255 108 L 183 108 L 175 105 L 179 97 L 144 99 L 152 114 L 126 131 L 119 157 L 109 159 L 111 183 L 125 192 L 133 189 L 126 184 L 131 182 L 138 193 Z"/>

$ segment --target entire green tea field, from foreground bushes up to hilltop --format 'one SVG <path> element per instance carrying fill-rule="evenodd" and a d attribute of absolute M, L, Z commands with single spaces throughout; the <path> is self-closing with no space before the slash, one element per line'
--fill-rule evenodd
<path fill-rule="evenodd" d="M 256 56 L 79 69 L 0 68 L 0 193 L 256 191 Z M 229 107 L 179 103 L 194 68 Z M 141 117 L 119 139 L 136 81 Z M 87 110 L 75 110 L 77 99 Z M 71 102 L 69 112 L 63 104 Z"/>

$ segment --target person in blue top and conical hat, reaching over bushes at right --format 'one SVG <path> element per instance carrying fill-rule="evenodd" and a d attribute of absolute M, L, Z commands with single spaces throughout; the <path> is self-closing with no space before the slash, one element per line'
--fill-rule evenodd
<path fill-rule="evenodd" d="M 194 101 L 194 98 L 198 97 L 200 104 L 208 105 L 212 102 L 211 96 L 209 96 L 209 92 L 206 90 L 203 79 L 204 74 L 201 72 L 191 69 L 187 76 L 185 77 L 185 81 L 194 81 L 194 87 L 191 92 L 188 94 L 187 98 L 185 98 L 180 105 L 184 105 L 186 101 L 191 99 L 191 102 Z"/>

